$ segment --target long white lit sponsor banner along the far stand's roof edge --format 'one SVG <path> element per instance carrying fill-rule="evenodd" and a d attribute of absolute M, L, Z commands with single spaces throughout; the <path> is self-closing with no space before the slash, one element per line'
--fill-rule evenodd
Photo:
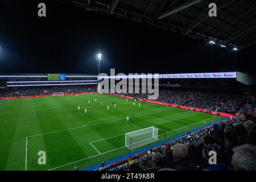
<path fill-rule="evenodd" d="M 179 73 L 160 75 L 125 75 L 125 76 L 101 76 L 101 78 L 236 78 L 237 72 L 220 73 Z"/>

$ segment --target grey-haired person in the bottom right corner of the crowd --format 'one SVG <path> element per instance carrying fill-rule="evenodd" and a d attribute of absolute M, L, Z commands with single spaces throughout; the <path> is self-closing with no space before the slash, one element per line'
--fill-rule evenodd
<path fill-rule="evenodd" d="M 232 166 L 235 171 L 256 171 L 256 146 L 243 144 L 233 148 Z"/>

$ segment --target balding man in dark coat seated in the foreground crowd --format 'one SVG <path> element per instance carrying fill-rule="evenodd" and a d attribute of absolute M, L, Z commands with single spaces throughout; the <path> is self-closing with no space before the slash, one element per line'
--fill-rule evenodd
<path fill-rule="evenodd" d="M 197 171 L 199 169 L 189 161 L 188 147 L 185 144 L 175 144 L 174 162 L 174 169 L 177 171 Z"/>

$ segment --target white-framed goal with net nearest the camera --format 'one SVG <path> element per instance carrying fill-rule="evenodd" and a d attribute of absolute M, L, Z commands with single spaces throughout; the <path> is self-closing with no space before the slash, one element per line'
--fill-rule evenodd
<path fill-rule="evenodd" d="M 156 140 L 158 140 L 158 128 L 154 126 L 125 134 L 125 146 L 129 149 L 137 148 Z"/>

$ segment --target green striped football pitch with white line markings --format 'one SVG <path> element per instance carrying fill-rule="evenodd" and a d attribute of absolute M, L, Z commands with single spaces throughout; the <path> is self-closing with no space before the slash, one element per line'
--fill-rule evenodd
<path fill-rule="evenodd" d="M 0 170 L 85 168 L 130 152 L 125 133 L 154 126 L 159 129 L 155 141 L 159 142 L 223 118 L 148 102 L 139 107 L 138 101 L 135 106 L 133 102 L 107 94 L 0 100 Z M 46 164 L 38 164 L 39 151 L 46 152 Z"/>

